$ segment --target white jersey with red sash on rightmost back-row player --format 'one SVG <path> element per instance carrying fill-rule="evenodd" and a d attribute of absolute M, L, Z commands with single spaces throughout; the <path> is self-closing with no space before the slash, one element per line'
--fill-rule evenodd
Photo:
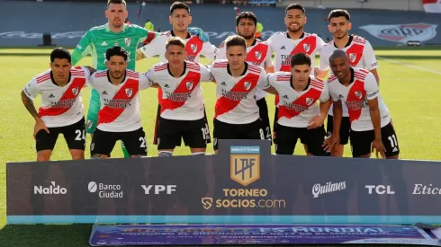
<path fill-rule="evenodd" d="M 334 50 L 338 49 L 334 41 L 330 41 L 326 44 L 320 51 L 320 70 L 329 70 L 329 57 Z M 361 38 L 349 36 L 347 45 L 343 48 L 347 53 L 347 58 L 349 58 L 349 66 L 356 66 L 365 68 L 369 71 L 378 67 L 377 58 L 374 54 L 374 49 L 372 48 L 369 41 Z M 329 115 L 332 113 L 332 105 L 329 109 Z M 343 117 L 348 117 L 346 105 L 343 105 Z"/>

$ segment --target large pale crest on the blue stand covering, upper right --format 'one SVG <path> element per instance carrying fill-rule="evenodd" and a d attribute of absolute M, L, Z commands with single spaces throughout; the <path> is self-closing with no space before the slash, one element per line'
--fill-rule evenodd
<path fill-rule="evenodd" d="M 360 28 L 378 39 L 399 43 L 428 41 L 437 36 L 437 25 L 428 23 L 365 25 Z"/>

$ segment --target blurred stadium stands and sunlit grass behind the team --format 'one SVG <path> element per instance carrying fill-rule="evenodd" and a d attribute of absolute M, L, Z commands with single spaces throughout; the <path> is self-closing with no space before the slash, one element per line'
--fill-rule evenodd
<path fill-rule="evenodd" d="M 126 0 L 127 1 L 127 0 Z M 167 31 L 169 5 L 174 1 L 128 0 L 129 21 L 144 26 L 149 19 L 155 30 Z M 441 160 L 441 1 L 439 0 L 195 0 L 190 4 L 192 26 L 201 27 L 218 46 L 235 31 L 235 16 L 252 11 L 264 25 L 263 40 L 275 31 L 284 31 L 284 7 L 299 3 L 307 8 L 304 30 L 332 40 L 328 31 L 328 13 L 345 8 L 351 13 L 351 33 L 369 40 L 379 58 L 381 91 L 392 112 L 401 145 L 401 158 Z M 33 122 L 23 107 L 20 92 L 32 76 L 49 68 L 49 52 L 55 46 L 70 50 L 89 28 L 101 25 L 105 0 L 24 1 L 0 0 L 0 163 L 35 160 Z M 434 13 L 432 13 L 434 12 Z M 147 71 L 157 58 L 144 59 L 137 70 Z M 208 61 L 202 60 L 202 63 Z M 90 65 L 90 57 L 80 62 Z M 213 84 L 203 84 L 204 100 L 212 118 L 215 102 Z M 83 93 L 85 110 L 89 90 Z M 270 96 L 272 97 L 272 96 Z M 151 144 L 156 114 L 157 92 L 147 90 L 141 96 L 141 118 Z M 268 100 L 269 104 L 273 101 Z M 36 105 L 39 105 L 39 101 Z M 270 109 L 273 109 L 270 107 Z M 270 110 L 270 118 L 274 109 Z M 212 127 L 211 127 L 212 133 Z M 87 140 L 87 144 L 90 139 Z M 121 157 L 115 146 L 115 157 Z M 150 146 L 148 155 L 157 155 Z M 296 154 L 303 154 L 297 148 Z M 86 150 L 88 152 L 88 149 Z M 208 149 L 212 153 L 211 146 Z M 175 154 L 188 154 L 178 148 Z M 86 153 L 88 156 L 88 153 Z M 52 155 L 67 159 L 67 146 L 59 138 Z M 350 148 L 345 156 L 350 156 Z M 5 225 L 5 169 L 0 169 L 0 246 L 87 246 L 90 225 Z"/>

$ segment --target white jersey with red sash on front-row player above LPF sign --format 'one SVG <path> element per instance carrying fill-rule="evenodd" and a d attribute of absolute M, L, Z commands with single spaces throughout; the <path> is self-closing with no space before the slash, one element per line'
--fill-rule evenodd
<path fill-rule="evenodd" d="M 242 75 L 233 77 L 227 60 L 215 60 L 211 75 L 216 81 L 216 106 L 214 118 L 229 124 L 247 124 L 259 118 L 255 99 L 257 87 L 268 87 L 266 72 L 261 66 L 245 62 Z"/>

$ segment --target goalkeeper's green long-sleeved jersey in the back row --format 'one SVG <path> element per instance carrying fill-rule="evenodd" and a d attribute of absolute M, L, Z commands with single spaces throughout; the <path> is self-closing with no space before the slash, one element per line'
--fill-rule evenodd
<path fill-rule="evenodd" d="M 148 37 L 152 36 L 152 37 Z M 105 66 L 105 52 L 113 46 L 120 46 L 129 54 L 128 69 L 135 70 L 136 49 L 139 42 L 143 42 L 147 38 L 154 38 L 155 32 L 147 31 L 138 25 L 124 24 L 124 28 L 120 32 L 113 32 L 109 29 L 108 24 L 96 26 L 85 33 L 79 41 L 76 49 L 72 53 L 72 64 L 81 60 L 89 53 L 92 55 L 92 64 L 97 70 L 107 69 Z"/>

